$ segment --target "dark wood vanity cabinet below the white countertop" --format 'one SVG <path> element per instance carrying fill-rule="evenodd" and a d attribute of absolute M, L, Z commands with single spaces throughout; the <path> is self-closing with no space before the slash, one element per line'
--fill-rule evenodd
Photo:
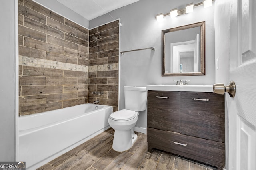
<path fill-rule="evenodd" d="M 148 91 L 148 152 L 153 148 L 225 167 L 224 95 Z"/>

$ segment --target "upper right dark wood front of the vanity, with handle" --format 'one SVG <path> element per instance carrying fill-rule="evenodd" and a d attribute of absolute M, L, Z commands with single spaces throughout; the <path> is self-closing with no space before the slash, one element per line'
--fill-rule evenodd
<path fill-rule="evenodd" d="M 180 92 L 180 133 L 225 142 L 224 95 Z"/>

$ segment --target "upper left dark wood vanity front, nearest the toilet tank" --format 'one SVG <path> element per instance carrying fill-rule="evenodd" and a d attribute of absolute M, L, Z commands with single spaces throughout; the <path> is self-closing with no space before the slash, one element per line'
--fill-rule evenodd
<path fill-rule="evenodd" d="M 180 92 L 148 91 L 148 127 L 180 132 Z"/>

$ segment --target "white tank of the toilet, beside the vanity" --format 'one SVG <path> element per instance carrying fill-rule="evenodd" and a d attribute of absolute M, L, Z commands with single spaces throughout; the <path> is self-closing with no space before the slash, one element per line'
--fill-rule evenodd
<path fill-rule="evenodd" d="M 132 111 L 146 110 L 147 97 L 146 87 L 124 86 L 125 109 Z"/>

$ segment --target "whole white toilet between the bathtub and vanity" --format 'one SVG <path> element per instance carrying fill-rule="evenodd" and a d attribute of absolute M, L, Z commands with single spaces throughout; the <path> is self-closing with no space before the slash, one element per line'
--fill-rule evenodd
<path fill-rule="evenodd" d="M 125 109 L 116 111 L 108 118 L 109 125 L 115 130 L 112 148 L 122 152 L 132 147 L 137 139 L 134 127 L 139 111 L 146 110 L 146 87 L 124 86 Z"/>

